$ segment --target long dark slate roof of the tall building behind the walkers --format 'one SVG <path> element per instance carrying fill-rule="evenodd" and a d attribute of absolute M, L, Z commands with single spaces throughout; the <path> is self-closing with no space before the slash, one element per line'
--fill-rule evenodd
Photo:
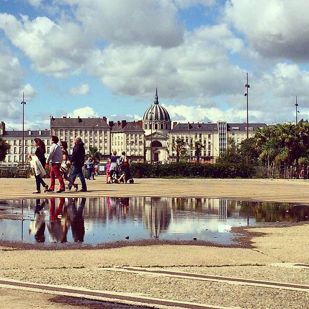
<path fill-rule="evenodd" d="M 101 128 L 110 129 L 102 118 L 54 118 L 50 121 L 52 128 Z"/>

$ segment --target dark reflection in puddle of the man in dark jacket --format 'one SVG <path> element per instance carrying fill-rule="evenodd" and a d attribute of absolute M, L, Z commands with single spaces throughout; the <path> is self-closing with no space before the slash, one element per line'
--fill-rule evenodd
<path fill-rule="evenodd" d="M 76 199 L 73 199 L 71 204 L 73 217 L 71 219 L 71 229 L 74 242 L 83 242 L 85 236 L 85 224 L 83 211 L 86 203 L 86 198 L 82 197 L 78 209 L 76 209 Z"/>

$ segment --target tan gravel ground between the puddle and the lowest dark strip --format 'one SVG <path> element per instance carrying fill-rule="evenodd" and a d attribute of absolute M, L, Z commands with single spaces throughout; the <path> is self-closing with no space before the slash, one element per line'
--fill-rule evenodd
<path fill-rule="evenodd" d="M 98 267 L 160 266 L 196 273 L 307 284 L 308 270 L 268 265 L 282 261 L 308 263 L 308 228 L 309 225 L 250 229 L 250 232 L 256 230 L 266 233 L 263 237 L 253 238 L 255 249 L 193 245 L 57 251 L 0 248 L 0 277 L 99 290 L 146 293 L 154 297 L 222 306 L 234 305 L 254 309 L 307 308 L 309 293 L 306 292 L 116 273 Z"/>

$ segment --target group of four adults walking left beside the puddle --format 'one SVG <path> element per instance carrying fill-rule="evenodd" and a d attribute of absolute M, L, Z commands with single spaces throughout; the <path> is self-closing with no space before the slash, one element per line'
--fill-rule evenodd
<path fill-rule="evenodd" d="M 30 162 L 30 166 L 34 170 L 34 176 L 36 181 L 36 191 L 33 193 L 39 194 L 41 193 L 41 185 L 43 186 L 44 192 L 54 192 L 55 191 L 55 183 L 56 178 L 59 181 L 60 188 L 56 191 L 57 193 L 65 192 L 66 187 L 64 183 L 64 179 L 69 181 L 68 190 L 71 190 L 72 187 L 75 190 L 78 190 L 78 185 L 75 184 L 75 179 L 78 176 L 81 181 L 81 189 L 79 191 L 86 192 L 87 185 L 85 181 L 85 177 L 82 171 L 82 167 L 84 166 L 85 160 L 85 147 L 82 139 L 80 137 L 76 137 L 74 139 L 74 148 L 72 152 L 72 156 L 69 160 L 68 154 L 68 143 L 66 141 L 61 141 L 59 145 L 59 138 L 57 136 L 52 136 L 50 141 L 51 146 L 47 156 L 45 159 L 46 147 L 44 142 L 40 138 L 34 139 L 35 146 L 37 147 L 35 150 L 35 156 L 28 156 L 28 161 Z M 50 186 L 44 182 L 42 177 L 46 175 L 45 173 L 45 165 L 48 164 L 50 166 Z M 69 176 L 69 169 L 71 164 L 74 164 L 72 176 Z"/>

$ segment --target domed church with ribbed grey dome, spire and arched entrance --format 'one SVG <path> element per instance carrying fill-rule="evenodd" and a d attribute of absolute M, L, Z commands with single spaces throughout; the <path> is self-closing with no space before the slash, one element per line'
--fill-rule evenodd
<path fill-rule="evenodd" d="M 169 160 L 168 138 L 171 118 L 168 111 L 159 105 L 158 87 L 155 101 L 145 112 L 142 127 L 145 131 L 145 152 L 147 162 L 167 162 Z"/>

